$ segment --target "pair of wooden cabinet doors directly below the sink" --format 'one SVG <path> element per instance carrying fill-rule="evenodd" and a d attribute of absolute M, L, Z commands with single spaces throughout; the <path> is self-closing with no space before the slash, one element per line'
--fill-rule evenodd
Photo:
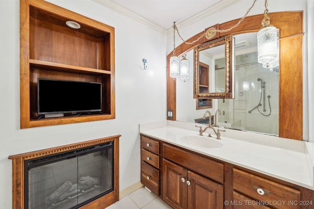
<path fill-rule="evenodd" d="M 223 185 L 163 159 L 163 200 L 175 209 L 223 209 Z"/>

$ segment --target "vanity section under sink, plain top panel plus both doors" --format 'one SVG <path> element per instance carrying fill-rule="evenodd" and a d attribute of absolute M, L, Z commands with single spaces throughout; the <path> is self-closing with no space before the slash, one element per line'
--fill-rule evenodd
<path fill-rule="evenodd" d="M 224 208 L 224 186 L 209 179 L 211 177 L 223 183 L 222 163 L 165 143 L 162 145 L 162 157 L 162 198 L 171 207 Z"/>

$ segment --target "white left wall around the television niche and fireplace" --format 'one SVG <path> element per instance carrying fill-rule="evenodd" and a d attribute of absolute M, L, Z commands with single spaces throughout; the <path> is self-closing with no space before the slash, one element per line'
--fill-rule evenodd
<path fill-rule="evenodd" d="M 122 190 L 140 181 L 138 124 L 166 119 L 166 36 L 91 0 L 49 1 L 115 27 L 116 118 L 20 129 L 19 0 L 0 0 L 1 209 L 12 208 L 9 155 L 121 134 Z"/>

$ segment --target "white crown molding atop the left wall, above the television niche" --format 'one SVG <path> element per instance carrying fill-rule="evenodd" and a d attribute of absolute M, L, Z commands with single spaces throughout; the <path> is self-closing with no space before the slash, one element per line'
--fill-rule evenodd
<path fill-rule="evenodd" d="M 147 26 L 161 34 L 166 35 L 167 34 L 167 30 L 151 21 L 146 20 L 145 18 L 135 14 L 134 12 L 130 11 L 129 9 L 126 9 L 123 6 L 120 6 L 119 4 L 111 1 L 111 0 L 92 0 L 96 3 L 99 3 L 105 7 L 107 7 L 108 9 L 111 9 L 112 11 L 115 11 L 121 15 L 124 15 L 134 21 L 136 21 L 137 23 L 140 23 L 144 26 Z"/>

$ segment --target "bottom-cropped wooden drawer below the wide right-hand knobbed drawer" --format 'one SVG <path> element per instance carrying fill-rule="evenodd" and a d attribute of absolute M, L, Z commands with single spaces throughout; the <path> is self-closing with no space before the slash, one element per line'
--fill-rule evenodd
<path fill-rule="evenodd" d="M 240 193 L 237 193 L 236 191 L 233 191 L 232 197 L 234 201 L 232 203 L 233 209 L 271 209 L 267 206 L 261 205 L 260 202 L 256 202 Z"/>

